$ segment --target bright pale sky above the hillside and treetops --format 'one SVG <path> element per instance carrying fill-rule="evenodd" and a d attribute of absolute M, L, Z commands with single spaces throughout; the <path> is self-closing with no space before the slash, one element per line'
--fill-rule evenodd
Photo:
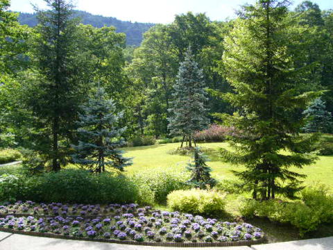
<path fill-rule="evenodd" d="M 77 10 L 85 10 L 94 15 L 117 17 L 123 21 L 151 22 L 167 24 L 175 15 L 192 11 L 205 12 L 212 21 L 233 18 L 234 10 L 244 3 L 255 0 L 72 0 Z M 43 0 L 11 0 L 11 10 L 33 12 L 31 3 L 45 8 Z M 302 0 L 294 0 L 293 6 Z M 313 0 L 322 10 L 333 9 L 333 0 Z"/>

